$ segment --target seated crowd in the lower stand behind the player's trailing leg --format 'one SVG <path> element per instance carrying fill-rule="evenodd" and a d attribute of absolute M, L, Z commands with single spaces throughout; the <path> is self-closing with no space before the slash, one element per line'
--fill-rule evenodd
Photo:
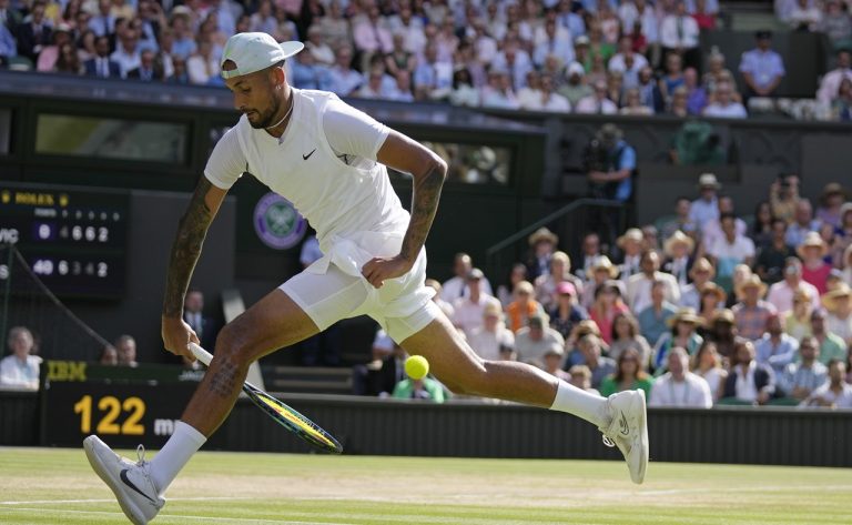
<path fill-rule="evenodd" d="M 852 202 L 840 184 L 812 203 L 783 174 L 747 216 L 706 173 L 657 225 L 627 230 L 608 252 L 590 232 L 581 250 L 572 264 L 540 229 L 505 280 L 459 253 L 455 276 L 429 284 L 483 359 L 604 395 L 852 408 Z M 392 347 L 374 347 L 378 370 Z"/>

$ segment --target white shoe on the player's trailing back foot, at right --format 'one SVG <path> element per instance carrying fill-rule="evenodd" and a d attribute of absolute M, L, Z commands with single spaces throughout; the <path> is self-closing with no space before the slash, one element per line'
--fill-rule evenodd
<path fill-rule="evenodd" d="M 612 416 L 604 433 L 604 444 L 617 446 L 625 455 L 630 478 L 633 483 L 645 481 L 648 468 L 648 421 L 645 407 L 645 391 L 633 390 L 612 394 L 607 400 Z"/>

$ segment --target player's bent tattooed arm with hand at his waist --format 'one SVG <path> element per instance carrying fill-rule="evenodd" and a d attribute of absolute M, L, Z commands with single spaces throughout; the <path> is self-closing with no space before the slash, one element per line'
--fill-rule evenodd
<path fill-rule="evenodd" d="M 407 273 L 417 260 L 438 209 L 447 164 L 423 144 L 396 131 L 390 131 L 378 150 L 378 162 L 414 175 L 412 220 L 399 254 L 390 259 L 375 258 L 362 270 L 371 284 L 382 287 L 385 280 Z"/>

